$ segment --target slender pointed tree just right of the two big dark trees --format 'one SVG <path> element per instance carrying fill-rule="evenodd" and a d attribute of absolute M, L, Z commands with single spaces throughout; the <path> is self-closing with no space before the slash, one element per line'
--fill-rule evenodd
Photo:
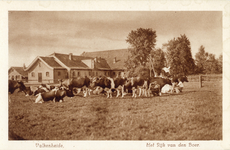
<path fill-rule="evenodd" d="M 199 51 L 195 55 L 195 62 L 197 66 L 196 73 L 205 73 L 205 64 L 206 64 L 208 55 L 209 54 L 205 52 L 205 47 L 201 45 L 199 48 Z"/>

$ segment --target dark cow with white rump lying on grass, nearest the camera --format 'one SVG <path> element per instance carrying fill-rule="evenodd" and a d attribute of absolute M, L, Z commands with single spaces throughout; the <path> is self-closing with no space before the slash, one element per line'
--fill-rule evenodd
<path fill-rule="evenodd" d="M 65 96 L 65 90 L 53 89 L 49 92 L 39 93 L 38 97 L 35 100 L 35 103 L 43 103 L 51 100 L 53 100 L 53 102 L 62 102 Z"/>

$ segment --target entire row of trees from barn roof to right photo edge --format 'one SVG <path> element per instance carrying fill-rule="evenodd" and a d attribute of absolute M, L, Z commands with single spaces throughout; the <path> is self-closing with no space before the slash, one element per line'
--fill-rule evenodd
<path fill-rule="evenodd" d="M 156 37 L 156 31 L 151 28 L 139 28 L 129 33 L 126 39 L 131 53 L 126 61 L 129 74 L 159 75 L 163 67 L 170 67 L 170 73 L 174 75 L 222 73 L 222 54 L 215 58 L 214 54 L 205 52 L 205 47 L 201 45 L 194 59 L 190 41 L 185 34 L 157 49 Z"/>

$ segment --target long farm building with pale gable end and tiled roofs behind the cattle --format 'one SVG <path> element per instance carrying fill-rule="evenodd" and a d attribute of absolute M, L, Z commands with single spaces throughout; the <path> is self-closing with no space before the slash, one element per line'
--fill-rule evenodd
<path fill-rule="evenodd" d="M 120 50 L 121 51 L 121 50 Z M 103 53 L 105 52 L 105 53 Z M 38 56 L 25 68 L 29 83 L 58 83 L 60 79 L 85 76 L 117 76 L 124 73 L 124 55 L 118 56 L 118 50 L 88 52 L 80 56 L 53 53 Z M 100 55 L 101 54 L 101 55 Z M 105 57 L 106 55 L 113 55 Z M 127 58 L 127 57 L 126 57 Z M 111 60 L 110 60 L 111 59 Z"/>

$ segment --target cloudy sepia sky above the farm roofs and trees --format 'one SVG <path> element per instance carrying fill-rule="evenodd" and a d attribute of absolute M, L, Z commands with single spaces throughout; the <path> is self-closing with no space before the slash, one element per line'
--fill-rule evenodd
<path fill-rule="evenodd" d="M 221 11 L 9 11 L 8 27 L 8 67 L 54 52 L 127 49 L 138 28 L 156 31 L 156 48 L 185 34 L 194 59 L 201 45 L 216 58 L 222 53 Z"/>

